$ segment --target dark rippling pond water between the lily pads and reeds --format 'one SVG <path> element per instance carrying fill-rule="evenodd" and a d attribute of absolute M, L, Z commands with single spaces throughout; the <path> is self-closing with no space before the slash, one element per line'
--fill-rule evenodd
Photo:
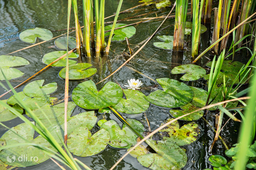
<path fill-rule="evenodd" d="M 118 5 L 118 0 L 106 0 L 105 1 L 105 16 L 110 16 L 115 13 Z M 124 1 L 121 11 L 139 5 L 138 0 L 129 0 Z M 82 19 L 82 4 L 79 0 L 79 16 L 80 22 L 83 21 Z M 146 14 L 143 17 L 154 17 L 154 16 L 161 16 L 167 15 L 170 11 L 170 7 L 165 9 L 156 9 L 154 5 L 150 6 L 143 6 L 137 7 L 129 12 L 124 14 L 120 14 L 119 19 L 126 19 L 128 17 L 134 16 L 132 19 L 137 19 L 136 16 L 140 14 Z M 73 11 L 72 11 L 73 12 Z M 188 16 L 189 19 L 190 16 Z M 113 17 L 107 19 L 106 21 L 112 21 Z M 74 16 L 71 13 L 71 24 L 70 27 L 74 27 Z M 122 23 L 135 23 L 140 20 L 134 21 L 122 21 Z M 158 28 L 160 23 L 163 21 L 161 20 L 153 20 L 146 23 L 140 23 L 134 25 L 136 28 L 136 34 L 129 38 L 129 42 L 131 44 L 132 49 L 136 50 L 140 47 L 149 36 Z M 168 19 L 162 26 L 165 28 L 161 30 L 157 35 L 173 35 L 174 30 L 174 18 Z M 81 23 L 81 25 L 83 25 Z M 105 25 L 108 25 L 107 23 Z M 67 28 L 67 0 L 0 0 L 0 55 L 8 54 L 12 51 L 16 51 L 18 49 L 22 49 L 24 47 L 29 46 L 29 43 L 22 42 L 19 40 L 19 33 L 23 30 L 29 28 L 46 28 L 53 32 L 53 37 L 61 35 L 65 33 L 65 29 Z M 62 31 L 56 31 L 62 30 Z M 211 29 L 212 30 L 212 29 Z M 208 27 L 206 33 L 203 33 L 202 42 L 201 42 L 201 49 L 206 49 L 209 45 L 209 34 L 211 34 L 211 30 Z M 74 36 L 74 33 L 71 33 Z M 108 38 L 105 39 L 106 41 Z M 37 40 L 38 41 L 38 40 Z M 39 40 L 41 41 L 41 40 Z M 152 81 L 151 79 L 157 79 L 161 77 L 169 77 L 171 79 L 179 79 L 181 75 L 172 75 L 170 73 L 171 69 L 174 68 L 176 65 L 187 64 L 191 62 L 191 55 L 190 55 L 190 47 L 191 47 L 191 36 L 186 35 L 186 49 L 183 55 L 179 55 L 176 57 L 172 57 L 171 50 L 163 50 L 158 49 L 153 46 L 153 42 L 158 42 L 159 40 L 155 37 L 142 49 L 142 51 L 136 55 L 126 66 L 124 66 L 120 71 L 115 73 L 111 78 L 107 79 L 106 81 L 97 85 L 98 89 L 100 89 L 106 82 L 112 81 L 120 84 L 120 86 L 124 87 L 124 84 L 127 84 L 127 79 L 135 78 L 140 79 L 143 82 L 143 86 L 141 91 L 148 95 L 150 92 L 156 90 L 156 82 Z M 84 62 L 91 62 L 93 67 L 97 68 L 98 72 L 96 75 L 91 77 L 90 79 L 93 82 L 97 83 L 106 76 L 108 76 L 112 71 L 117 69 L 124 61 L 125 58 L 121 55 L 122 51 L 126 49 L 126 41 L 120 42 L 112 42 L 111 49 L 109 56 L 102 56 L 101 58 L 82 58 L 81 60 Z M 11 80 L 12 86 L 18 85 L 20 82 L 24 81 L 25 79 L 31 77 L 35 74 L 38 70 L 41 70 L 45 66 L 42 62 L 43 55 L 52 51 L 57 51 L 57 47 L 54 46 L 54 40 L 49 42 L 40 44 L 36 47 L 32 47 L 30 49 L 26 49 L 23 51 L 19 51 L 12 55 L 14 56 L 21 56 L 26 58 L 30 65 L 26 65 L 23 67 L 18 68 L 25 74 L 18 79 Z M 212 58 L 212 56 L 208 56 Z M 127 58 L 126 58 L 127 59 Z M 241 59 L 241 58 L 240 58 Z M 242 59 L 241 59 L 242 60 Z M 204 66 L 208 62 L 206 57 L 203 57 L 199 61 L 199 65 Z M 33 80 L 38 79 L 45 79 L 45 84 L 50 82 L 57 82 L 58 89 L 55 91 L 51 96 L 57 97 L 59 99 L 64 98 L 64 84 L 65 80 L 58 76 L 59 71 L 62 69 L 53 67 L 49 68 Z M 136 70 L 134 70 L 136 69 Z M 141 72 L 142 74 L 139 74 Z M 147 77 L 145 77 L 146 75 Z M 149 79 L 150 77 L 151 79 Z M 181 80 L 179 80 L 181 81 Z M 1 81 L 3 84 L 6 85 L 5 81 Z M 79 81 L 69 81 L 69 94 L 71 95 L 72 90 L 84 80 Z M 203 79 L 199 79 L 193 82 L 184 82 L 189 86 L 195 86 L 199 88 L 206 89 L 206 81 Z M 22 91 L 24 86 L 17 88 L 17 91 Z M 160 88 L 160 86 L 158 86 Z M 5 89 L 0 87 L 0 94 L 4 93 Z M 5 100 L 10 98 L 12 93 L 5 95 L 1 100 Z M 144 126 L 147 128 L 146 117 L 150 122 L 151 129 L 154 130 L 160 126 L 161 123 L 167 118 L 170 117 L 169 110 L 167 108 L 158 107 L 155 105 L 150 105 L 149 109 L 141 114 L 122 114 L 125 118 L 132 118 L 141 121 Z M 79 114 L 84 112 L 84 109 L 80 107 L 76 107 L 72 115 Z M 96 115 L 100 119 L 102 116 L 96 112 Z M 207 115 L 207 120 L 214 126 L 214 117 L 213 114 Z M 122 124 L 119 119 L 117 119 L 113 114 L 106 114 L 107 119 L 115 119 L 120 125 Z M 227 117 L 224 117 L 224 121 L 227 121 Z M 22 123 L 19 118 L 13 119 L 11 121 L 4 122 L 5 125 L 8 127 L 17 126 L 18 124 Z M 179 121 L 180 125 L 183 125 L 184 121 Z M 201 134 L 196 142 L 184 146 L 187 149 L 187 156 L 188 161 L 187 165 L 182 168 L 184 170 L 200 170 L 203 168 L 210 168 L 210 165 L 207 161 L 208 157 L 212 154 L 220 154 L 224 155 L 225 147 L 223 144 L 218 140 L 213 148 L 213 151 L 210 151 L 211 143 L 213 142 L 214 138 L 214 130 L 203 120 L 199 119 L 196 121 L 199 124 L 201 129 Z M 228 147 L 232 144 L 237 142 L 237 130 L 239 124 L 233 121 L 229 121 L 227 125 L 224 127 L 220 135 L 225 140 Z M 93 131 L 98 130 L 99 127 L 95 126 Z M 147 129 L 148 130 L 148 129 Z M 0 136 L 7 131 L 6 128 L 0 126 Z M 92 169 L 102 170 L 102 169 L 109 169 L 123 154 L 125 154 L 125 149 L 113 149 L 108 146 L 103 152 L 97 154 L 95 156 L 81 158 L 77 157 L 79 160 L 84 162 Z M 76 157 L 76 156 L 75 156 Z M 17 168 L 24 169 L 24 170 L 52 170 L 52 169 L 60 169 L 53 161 L 48 160 L 44 163 L 39 165 L 35 165 L 32 167 L 27 168 Z M 124 160 L 117 165 L 118 170 L 144 170 L 147 169 L 143 167 L 136 158 L 132 156 L 127 156 Z"/>

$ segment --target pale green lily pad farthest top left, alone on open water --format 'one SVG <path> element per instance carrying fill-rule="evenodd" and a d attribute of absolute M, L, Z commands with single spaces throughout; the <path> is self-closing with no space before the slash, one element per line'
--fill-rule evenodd
<path fill-rule="evenodd" d="M 36 27 L 36 28 L 24 30 L 19 35 L 19 38 L 22 41 L 29 42 L 29 43 L 35 43 L 37 37 L 40 38 L 41 40 L 49 41 L 50 39 L 53 38 L 53 33 L 50 32 L 50 30 L 47 30 L 45 28 Z"/>

